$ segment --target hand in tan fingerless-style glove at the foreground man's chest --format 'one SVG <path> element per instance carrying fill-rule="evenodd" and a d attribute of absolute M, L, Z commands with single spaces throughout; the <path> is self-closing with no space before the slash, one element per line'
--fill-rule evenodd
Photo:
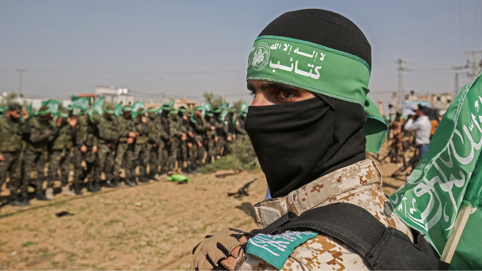
<path fill-rule="evenodd" d="M 250 232 L 231 228 L 221 230 L 214 235 L 207 235 L 201 243 L 193 248 L 194 257 L 189 270 L 226 270 L 223 266 L 218 266 L 218 261 L 222 258 L 237 256 L 230 255 L 230 253 L 235 247 L 243 244 L 238 241 L 243 235 L 253 237 Z"/>

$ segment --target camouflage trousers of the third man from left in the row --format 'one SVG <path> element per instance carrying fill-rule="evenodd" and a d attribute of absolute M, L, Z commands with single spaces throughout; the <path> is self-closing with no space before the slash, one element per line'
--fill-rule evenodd
<path fill-rule="evenodd" d="M 70 171 L 70 151 L 69 150 L 53 150 L 49 156 L 49 179 L 47 187 L 54 187 L 54 181 L 58 179 L 57 170 L 60 169 L 60 180 L 62 186 L 66 186 L 68 182 L 68 173 Z"/>

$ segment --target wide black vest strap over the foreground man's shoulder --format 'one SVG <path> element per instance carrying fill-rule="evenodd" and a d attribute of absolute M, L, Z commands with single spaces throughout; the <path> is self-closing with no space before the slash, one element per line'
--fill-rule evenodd
<path fill-rule="evenodd" d="M 259 233 L 279 234 L 286 230 L 329 234 L 348 244 L 373 270 L 448 270 L 418 231 L 415 244 L 400 230 L 385 227 L 372 214 L 351 203 L 333 203 L 313 208 L 299 217 L 288 212 Z"/>

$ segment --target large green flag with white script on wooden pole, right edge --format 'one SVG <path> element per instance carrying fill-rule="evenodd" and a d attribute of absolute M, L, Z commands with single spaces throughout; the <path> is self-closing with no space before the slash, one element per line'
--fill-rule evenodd
<path fill-rule="evenodd" d="M 473 208 L 449 270 L 482 269 L 482 81 L 455 97 L 407 183 L 390 196 L 394 212 L 439 254 L 461 204 Z"/>

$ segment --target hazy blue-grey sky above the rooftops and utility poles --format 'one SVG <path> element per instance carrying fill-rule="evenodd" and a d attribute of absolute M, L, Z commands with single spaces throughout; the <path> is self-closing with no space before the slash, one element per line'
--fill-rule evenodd
<path fill-rule="evenodd" d="M 0 92 L 69 96 L 115 85 L 146 99 L 200 97 L 204 91 L 246 102 L 248 53 L 261 30 L 284 12 L 321 8 L 357 24 L 372 45 L 372 100 L 397 89 L 454 92 L 453 66 L 482 49 L 482 1 L 0 1 Z M 161 83 L 160 79 L 161 78 Z M 459 87 L 469 78 L 461 77 Z M 142 93 L 142 94 L 141 94 Z M 146 94 L 146 95 L 145 95 Z M 385 103 L 386 105 L 388 103 Z"/>

